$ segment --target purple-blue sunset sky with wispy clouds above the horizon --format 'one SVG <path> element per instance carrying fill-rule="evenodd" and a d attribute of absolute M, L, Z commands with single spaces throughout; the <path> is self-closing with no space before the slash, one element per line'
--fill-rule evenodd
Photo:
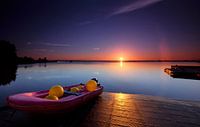
<path fill-rule="evenodd" d="M 0 40 L 34 59 L 200 59 L 199 6 L 199 0 L 1 0 Z"/>

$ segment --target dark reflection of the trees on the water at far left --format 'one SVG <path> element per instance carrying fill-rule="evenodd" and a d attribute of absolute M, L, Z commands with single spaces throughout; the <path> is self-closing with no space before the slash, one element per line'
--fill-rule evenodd
<path fill-rule="evenodd" d="M 0 85 L 7 85 L 16 80 L 17 65 L 1 65 L 0 70 Z"/>

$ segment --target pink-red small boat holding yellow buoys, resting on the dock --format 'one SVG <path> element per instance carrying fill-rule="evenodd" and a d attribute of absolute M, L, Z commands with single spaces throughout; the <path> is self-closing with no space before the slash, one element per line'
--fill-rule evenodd
<path fill-rule="evenodd" d="M 69 90 L 71 87 L 76 86 L 79 85 L 66 86 L 63 88 L 64 90 Z M 44 90 L 11 95 L 7 98 L 7 103 L 14 109 L 33 113 L 57 113 L 70 111 L 99 96 L 103 92 L 103 86 L 98 86 L 98 88 L 93 92 L 83 90 L 78 96 L 68 95 L 59 100 L 45 99 L 48 92 L 49 90 Z"/>

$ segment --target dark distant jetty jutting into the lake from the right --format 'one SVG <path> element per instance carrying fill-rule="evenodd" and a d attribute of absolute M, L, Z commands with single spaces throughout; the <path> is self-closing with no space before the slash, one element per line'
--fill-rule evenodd
<path fill-rule="evenodd" d="M 173 78 L 185 78 L 200 80 L 200 66 L 172 65 L 164 71 Z"/>

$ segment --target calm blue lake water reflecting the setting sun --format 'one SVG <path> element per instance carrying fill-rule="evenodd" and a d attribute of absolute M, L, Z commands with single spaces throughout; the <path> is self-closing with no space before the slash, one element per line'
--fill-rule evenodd
<path fill-rule="evenodd" d="M 200 101 L 200 80 L 178 79 L 163 70 L 171 65 L 199 63 L 168 62 L 91 62 L 20 65 L 16 79 L 0 86 L 0 105 L 15 93 L 49 89 L 57 83 L 63 86 L 85 83 L 96 77 L 107 92 L 122 92 L 163 96 L 173 99 Z"/>

